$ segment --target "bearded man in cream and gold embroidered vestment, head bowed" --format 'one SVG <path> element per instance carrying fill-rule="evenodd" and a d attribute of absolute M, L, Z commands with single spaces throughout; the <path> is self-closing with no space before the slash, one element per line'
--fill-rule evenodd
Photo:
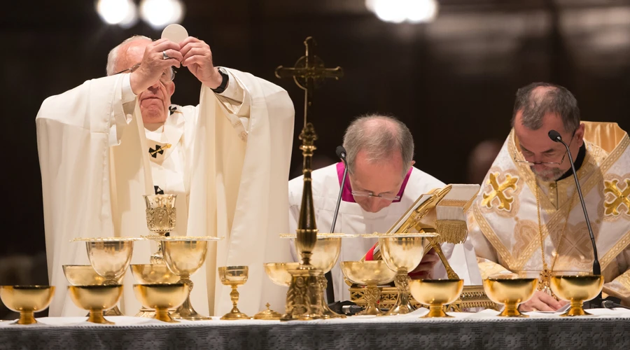
<path fill-rule="evenodd" d="M 556 130 L 569 145 L 549 139 Z M 593 248 L 571 172 L 573 161 L 593 228 L 604 296 L 630 304 L 630 139 L 616 123 L 580 121 L 566 88 L 532 83 L 517 91 L 512 131 L 468 211 L 482 277 L 538 276 L 522 311 L 555 311 L 565 302 L 549 276 L 592 272 Z"/>

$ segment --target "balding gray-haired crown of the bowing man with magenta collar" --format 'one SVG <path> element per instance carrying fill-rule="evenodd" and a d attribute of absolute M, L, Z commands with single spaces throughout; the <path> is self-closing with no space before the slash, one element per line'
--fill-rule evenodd
<path fill-rule="evenodd" d="M 354 172 L 356 155 L 363 151 L 368 162 L 391 160 L 400 153 L 402 177 L 414 158 L 414 138 L 405 123 L 391 116 L 371 114 L 353 120 L 344 134 L 348 171 Z"/>

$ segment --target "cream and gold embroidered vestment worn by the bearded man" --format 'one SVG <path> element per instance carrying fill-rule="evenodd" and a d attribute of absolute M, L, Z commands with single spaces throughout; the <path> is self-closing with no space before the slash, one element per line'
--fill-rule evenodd
<path fill-rule="evenodd" d="M 630 303 L 630 139 L 616 123 L 584 124 L 586 153 L 577 178 L 605 277 L 603 293 Z M 468 211 L 482 275 L 538 275 L 543 251 L 553 272 L 592 272 L 593 248 L 573 176 L 536 179 L 526 163 L 514 162 L 514 138 L 512 130 Z"/>

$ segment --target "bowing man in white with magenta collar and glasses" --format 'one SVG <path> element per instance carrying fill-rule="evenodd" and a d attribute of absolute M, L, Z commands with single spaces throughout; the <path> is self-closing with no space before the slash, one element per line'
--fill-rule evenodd
<path fill-rule="evenodd" d="M 346 129 L 343 146 L 349 169 L 335 232 L 387 232 L 418 197 L 445 186 L 442 181 L 414 167 L 414 139 L 407 125 L 397 118 L 381 115 L 356 118 Z M 343 175 L 343 162 L 317 169 L 311 175 L 320 232 L 330 230 Z M 290 232 L 297 229 L 303 183 L 302 176 L 289 181 Z M 360 260 L 376 243 L 377 239 L 372 238 L 344 238 L 339 261 Z M 443 244 L 442 250 L 466 284 L 482 283 L 470 242 Z M 292 253 L 297 261 L 294 248 Z M 430 251 L 409 275 L 412 278 L 447 278 L 443 265 L 436 264 L 438 260 L 437 254 Z M 350 300 L 348 286 L 338 265 L 332 267 L 330 279 L 335 301 Z M 333 300 L 328 299 L 328 302 Z"/>

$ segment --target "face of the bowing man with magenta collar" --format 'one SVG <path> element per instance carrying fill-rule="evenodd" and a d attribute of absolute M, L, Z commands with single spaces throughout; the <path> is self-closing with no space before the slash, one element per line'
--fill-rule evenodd
<path fill-rule="evenodd" d="M 348 178 L 355 193 L 369 192 L 374 196 L 398 195 L 402 181 L 405 179 L 402 176 L 402 158 L 398 154 L 383 162 L 368 162 L 365 153 L 359 151 L 354 160 L 353 172 Z M 376 213 L 392 203 L 391 199 L 374 196 L 353 195 L 354 201 L 360 205 L 361 209 L 370 213 Z"/>

